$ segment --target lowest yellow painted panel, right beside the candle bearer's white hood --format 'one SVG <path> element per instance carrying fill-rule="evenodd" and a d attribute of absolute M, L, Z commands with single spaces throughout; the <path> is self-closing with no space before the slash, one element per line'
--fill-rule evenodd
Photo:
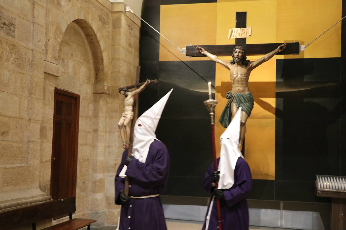
<path fill-rule="evenodd" d="M 245 159 L 253 179 L 275 179 L 275 119 L 249 119 Z"/>

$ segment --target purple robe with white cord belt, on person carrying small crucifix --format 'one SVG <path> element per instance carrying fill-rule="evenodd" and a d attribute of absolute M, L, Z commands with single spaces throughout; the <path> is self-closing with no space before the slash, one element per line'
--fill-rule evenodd
<path fill-rule="evenodd" d="M 119 194 L 124 190 L 125 178 L 119 177 L 127 157 L 122 153 L 121 163 L 115 177 L 115 203 L 121 205 Z M 145 163 L 133 158 L 127 166 L 130 178 L 129 196 L 143 197 L 164 192 L 169 172 L 169 154 L 166 146 L 158 140 L 150 144 Z M 122 204 L 119 230 L 166 230 L 166 222 L 160 197 L 130 199 Z"/>

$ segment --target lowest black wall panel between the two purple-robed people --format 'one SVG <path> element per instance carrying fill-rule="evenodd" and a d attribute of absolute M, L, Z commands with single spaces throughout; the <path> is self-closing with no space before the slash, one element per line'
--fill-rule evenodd
<path fill-rule="evenodd" d="M 211 197 L 211 193 L 203 189 L 203 181 L 203 177 L 169 176 L 167 190 L 163 195 Z"/>

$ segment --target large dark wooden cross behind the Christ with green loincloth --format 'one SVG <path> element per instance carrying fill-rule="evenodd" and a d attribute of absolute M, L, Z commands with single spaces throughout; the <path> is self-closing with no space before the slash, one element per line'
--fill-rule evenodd
<path fill-rule="evenodd" d="M 246 12 L 236 12 L 236 28 L 246 27 Z M 283 42 L 282 42 L 283 43 Z M 198 45 L 199 47 L 204 48 L 208 52 L 216 56 L 231 56 L 233 54 L 233 49 L 237 45 L 242 45 L 246 50 L 246 56 L 249 55 L 265 55 L 273 50 L 275 50 L 282 43 L 264 43 L 264 44 L 246 44 L 246 38 L 236 38 L 234 45 Z M 186 57 L 205 57 L 203 54 L 200 54 L 196 49 L 196 46 L 186 46 Z M 299 54 L 300 44 L 299 42 L 288 42 L 286 49 L 280 54 Z"/>

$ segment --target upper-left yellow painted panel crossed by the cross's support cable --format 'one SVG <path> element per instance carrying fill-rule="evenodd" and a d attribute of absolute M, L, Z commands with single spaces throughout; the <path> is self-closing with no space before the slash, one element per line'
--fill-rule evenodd
<path fill-rule="evenodd" d="M 179 48 L 185 45 L 216 44 L 217 3 L 161 5 L 160 33 Z M 169 41 L 160 36 L 160 61 L 210 60 L 186 58 Z"/>

